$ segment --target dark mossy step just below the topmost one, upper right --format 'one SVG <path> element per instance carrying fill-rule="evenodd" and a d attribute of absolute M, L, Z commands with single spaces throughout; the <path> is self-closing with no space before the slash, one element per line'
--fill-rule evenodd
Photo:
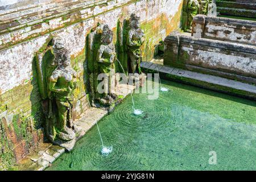
<path fill-rule="evenodd" d="M 220 13 L 220 15 L 256 18 L 256 10 L 236 9 L 236 8 L 230 8 L 230 7 L 217 7 L 217 12 Z"/>

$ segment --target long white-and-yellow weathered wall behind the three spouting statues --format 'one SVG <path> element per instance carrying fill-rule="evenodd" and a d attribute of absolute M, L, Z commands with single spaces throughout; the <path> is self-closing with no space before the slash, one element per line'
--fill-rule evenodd
<path fill-rule="evenodd" d="M 118 19 L 122 21 L 129 18 L 131 13 L 136 13 L 141 16 L 141 26 L 146 34 L 143 60 L 149 61 L 154 55 L 155 44 L 179 28 L 182 0 L 86 0 L 59 3 L 54 7 L 48 5 L 52 6 L 52 3 L 43 6 L 44 10 L 36 6 L 9 14 L 1 11 L 0 118 L 5 117 L 8 123 L 6 126 L 13 125 L 15 115 L 20 115 L 23 123 L 26 123 L 27 118 L 31 118 L 35 131 L 42 126 L 44 119 L 36 82 L 34 56 L 50 35 L 59 37 L 71 51 L 72 66 L 79 73 L 73 112 L 75 118 L 79 118 L 88 107 L 85 57 L 86 35 L 90 30 L 98 23 L 109 24 L 114 31 L 116 43 Z M 6 9 L 5 12 L 7 11 Z M 7 135 L 5 137 L 9 140 L 9 149 L 12 151 L 13 144 Z M 31 144 L 31 147 L 33 146 L 35 145 Z M 21 156 L 27 152 L 23 153 Z M 0 159 L 3 161 L 2 156 Z M 20 158 L 14 159 L 17 161 Z M 2 169 L 6 166 L 3 165 Z"/>

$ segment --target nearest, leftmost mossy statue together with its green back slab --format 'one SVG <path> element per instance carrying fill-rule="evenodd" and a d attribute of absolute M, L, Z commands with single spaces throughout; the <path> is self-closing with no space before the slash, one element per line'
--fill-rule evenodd
<path fill-rule="evenodd" d="M 37 53 L 36 68 L 46 115 L 45 133 L 51 142 L 70 151 L 76 142 L 72 101 L 77 74 L 71 67 L 70 52 L 60 39 L 51 39 L 47 47 Z"/>

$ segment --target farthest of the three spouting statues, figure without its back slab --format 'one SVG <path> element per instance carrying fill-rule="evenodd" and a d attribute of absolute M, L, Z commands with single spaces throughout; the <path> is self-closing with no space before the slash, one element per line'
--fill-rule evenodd
<path fill-rule="evenodd" d="M 131 14 L 127 35 L 127 53 L 129 56 L 129 73 L 141 73 L 139 64 L 142 60 L 141 46 L 144 43 L 144 32 L 139 27 L 139 16 Z"/>

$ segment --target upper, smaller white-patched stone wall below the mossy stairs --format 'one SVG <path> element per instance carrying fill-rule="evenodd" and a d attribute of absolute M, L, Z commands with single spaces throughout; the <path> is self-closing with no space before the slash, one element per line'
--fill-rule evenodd
<path fill-rule="evenodd" d="M 196 15 L 192 24 L 192 36 L 255 45 L 256 22 Z"/>

